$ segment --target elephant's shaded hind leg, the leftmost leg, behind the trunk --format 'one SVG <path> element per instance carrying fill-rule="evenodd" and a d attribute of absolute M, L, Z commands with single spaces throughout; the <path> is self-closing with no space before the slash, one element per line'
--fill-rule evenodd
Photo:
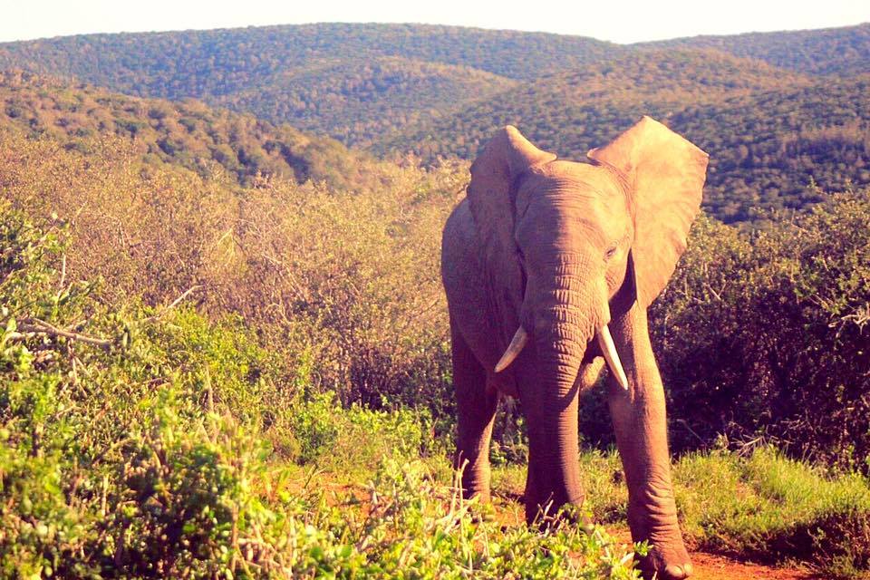
<path fill-rule="evenodd" d="M 458 411 L 454 467 L 462 470 L 465 498 L 489 500 L 489 438 L 498 406 L 498 391 L 487 388 L 487 373 L 462 335 L 451 331 L 453 388 Z"/>

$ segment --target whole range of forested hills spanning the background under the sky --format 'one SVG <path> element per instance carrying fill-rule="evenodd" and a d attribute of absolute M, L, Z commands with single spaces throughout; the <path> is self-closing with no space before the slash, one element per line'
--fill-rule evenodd
<path fill-rule="evenodd" d="M 241 180 L 358 178 L 346 175 L 360 167 L 353 155 L 285 123 L 381 156 L 414 151 L 430 161 L 471 159 L 510 122 L 583 159 L 650 114 L 710 152 L 707 208 L 728 222 L 803 208 L 817 200 L 813 182 L 843 189 L 870 181 L 861 76 L 870 73 L 870 24 L 636 45 L 420 24 L 91 34 L 0 44 L 0 70 L 9 67 L 77 79 L 67 93 L 95 95 L 100 86 L 175 103 L 106 93 L 91 98 L 100 107 L 82 107 L 57 101 L 54 90 L 13 88 L 6 75 L 8 119 L 0 121 L 73 141 L 126 134 L 152 160 L 200 172 L 217 161 Z M 189 97 L 256 119 L 203 112 Z M 97 111 L 111 121 L 96 121 Z"/>

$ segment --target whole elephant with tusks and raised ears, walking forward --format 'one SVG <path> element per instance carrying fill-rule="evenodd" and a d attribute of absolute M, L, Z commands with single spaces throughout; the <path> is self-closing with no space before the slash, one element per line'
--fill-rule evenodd
<path fill-rule="evenodd" d="M 707 153 L 650 117 L 590 162 L 557 160 L 515 127 L 470 168 L 441 243 L 466 497 L 489 500 L 499 398 L 527 421 L 526 518 L 579 505 L 578 394 L 605 382 L 645 577 L 691 575 L 674 502 L 662 378 L 647 307 L 686 248 Z M 604 359 L 604 360 L 603 360 Z"/>

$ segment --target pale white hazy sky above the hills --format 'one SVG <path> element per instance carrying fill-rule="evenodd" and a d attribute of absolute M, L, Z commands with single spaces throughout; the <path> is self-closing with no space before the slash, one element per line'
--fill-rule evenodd
<path fill-rule="evenodd" d="M 313 22 L 411 22 L 545 31 L 618 43 L 846 26 L 870 0 L 0 0 L 0 42 L 67 34 Z"/>

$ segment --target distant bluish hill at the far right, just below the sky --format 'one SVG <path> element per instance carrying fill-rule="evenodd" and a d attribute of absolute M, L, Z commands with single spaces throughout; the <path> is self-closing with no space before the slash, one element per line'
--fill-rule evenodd
<path fill-rule="evenodd" d="M 870 23 L 823 30 L 695 36 L 634 46 L 712 48 L 799 73 L 870 73 Z"/>

